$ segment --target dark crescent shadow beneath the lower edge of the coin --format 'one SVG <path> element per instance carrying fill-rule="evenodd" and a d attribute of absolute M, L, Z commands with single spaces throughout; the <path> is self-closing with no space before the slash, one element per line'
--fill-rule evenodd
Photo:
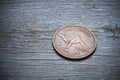
<path fill-rule="evenodd" d="M 96 48 L 97 48 L 97 47 L 96 47 Z M 94 50 L 90 55 L 88 55 L 88 56 L 86 56 L 86 57 L 84 57 L 84 58 L 79 58 L 79 59 L 72 59 L 72 58 L 65 57 L 65 56 L 59 54 L 59 53 L 55 50 L 55 48 L 53 48 L 53 49 L 54 49 L 55 53 L 56 53 L 59 57 L 65 59 L 65 60 L 69 60 L 69 61 L 83 61 L 83 60 L 85 60 L 85 59 L 90 58 L 90 57 L 95 53 L 96 48 L 95 48 L 95 50 Z"/>

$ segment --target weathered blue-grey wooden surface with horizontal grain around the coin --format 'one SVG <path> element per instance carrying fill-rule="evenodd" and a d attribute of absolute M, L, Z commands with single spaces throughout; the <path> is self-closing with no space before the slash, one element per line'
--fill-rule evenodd
<path fill-rule="evenodd" d="M 1 0 L 0 80 L 120 80 L 119 0 Z M 54 32 L 81 25 L 97 49 L 72 61 L 52 47 Z"/>

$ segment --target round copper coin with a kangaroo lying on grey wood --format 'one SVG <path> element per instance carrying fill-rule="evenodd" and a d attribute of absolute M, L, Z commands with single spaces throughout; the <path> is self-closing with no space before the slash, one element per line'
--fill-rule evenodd
<path fill-rule="evenodd" d="M 62 56 L 81 59 L 89 56 L 96 48 L 95 35 L 85 27 L 67 26 L 56 31 L 53 46 Z"/>

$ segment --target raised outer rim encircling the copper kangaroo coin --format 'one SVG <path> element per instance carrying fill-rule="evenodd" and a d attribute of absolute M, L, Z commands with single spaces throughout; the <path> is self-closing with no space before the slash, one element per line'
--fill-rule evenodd
<path fill-rule="evenodd" d="M 69 56 L 69 55 L 64 54 L 63 52 L 61 52 L 61 51 L 57 48 L 57 46 L 55 45 L 55 44 L 56 44 L 56 43 L 55 43 L 55 37 L 56 37 L 57 33 L 60 32 L 61 30 L 65 29 L 65 28 L 70 28 L 70 27 L 72 27 L 72 28 L 74 28 L 74 27 L 84 28 L 84 29 L 88 30 L 88 31 L 92 34 L 92 37 L 93 37 L 93 39 L 94 39 L 94 47 L 93 47 L 93 49 L 92 49 L 89 53 L 87 53 L 87 54 L 85 54 L 85 55 L 83 55 L 83 56 L 71 57 L 71 56 Z M 76 26 L 76 25 L 73 25 L 73 26 L 65 26 L 65 27 L 62 27 L 62 28 L 58 29 L 58 30 L 54 33 L 54 35 L 53 35 L 53 47 L 54 47 L 54 49 L 57 51 L 58 54 L 60 54 L 61 56 L 65 57 L 65 58 L 69 58 L 69 59 L 82 59 L 82 58 L 88 57 L 89 55 L 91 55 L 91 54 L 95 51 L 96 45 L 97 45 L 97 44 L 96 44 L 96 37 L 95 37 L 94 33 L 93 33 L 92 31 L 90 31 L 88 28 L 83 27 L 83 26 Z"/>

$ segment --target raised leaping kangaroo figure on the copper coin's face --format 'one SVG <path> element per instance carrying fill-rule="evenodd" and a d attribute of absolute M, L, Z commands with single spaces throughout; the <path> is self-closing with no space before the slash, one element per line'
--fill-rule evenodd
<path fill-rule="evenodd" d="M 62 38 L 62 40 L 67 45 L 64 49 L 69 49 L 73 44 L 80 44 L 82 48 L 79 48 L 77 50 L 81 51 L 88 51 L 89 47 L 86 45 L 86 43 L 82 40 L 82 38 L 78 35 L 75 36 L 71 40 L 67 40 L 66 35 L 63 33 L 60 33 L 59 36 Z"/>

